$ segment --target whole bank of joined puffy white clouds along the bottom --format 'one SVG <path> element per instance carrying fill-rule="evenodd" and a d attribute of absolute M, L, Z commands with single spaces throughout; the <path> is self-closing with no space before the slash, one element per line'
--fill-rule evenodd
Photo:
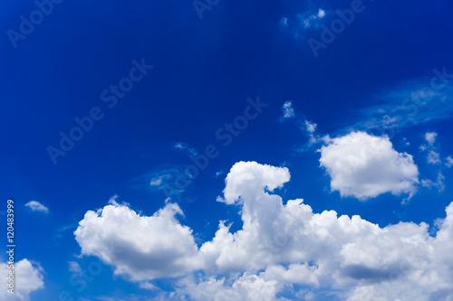
<path fill-rule="evenodd" d="M 386 141 L 376 142 L 382 152 L 389 151 Z M 170 203 L 150 217 L 116 202 L 87 212 L 76 240 L 83 254 L 141 284 L 182 276 L 173 292 L 159 296 L 166 300 L 453 298 L 453 203 L 430 236 L 426 223 L 381 228 L 357 215 L 314 213 L 302 199 L 284 203 L 274 192 L 289 179 L 284 167 L 236 163 L 218 201 L 242 207 L 243 227 L 231 232 L 220 222 L 199 248 L 175 219 L 180 208 Z M 120 252 L 109 249 L 111 241 Z"/>

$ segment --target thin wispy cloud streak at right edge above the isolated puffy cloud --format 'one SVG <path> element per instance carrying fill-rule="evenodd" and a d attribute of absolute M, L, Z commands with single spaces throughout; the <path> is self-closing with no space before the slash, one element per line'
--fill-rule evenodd
<path fill-rule="evenodd" d="M 373 105 L 360 108 L 347 118 L 346 130 L 375 130 L 391 135 L 404 127 L 451 118 L 453 116 L 453 73 L 443 68 L 433 75 L 406 80 L 390 89 L 381 89 L 371 99 Z M 351 121 L 350 120 L 355 120 Z M 434 138 L 434 137 L 433 137 Z"/>

